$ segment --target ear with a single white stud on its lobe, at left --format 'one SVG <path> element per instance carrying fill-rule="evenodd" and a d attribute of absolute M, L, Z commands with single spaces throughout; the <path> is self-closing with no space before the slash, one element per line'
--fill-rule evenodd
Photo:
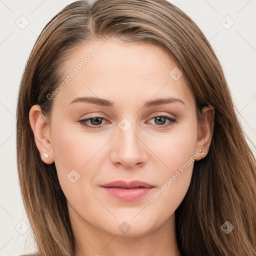
<path fill-rule="evenodd" d="M 48 120 L 43 116 L 39 105 L 33 105 L 30 108 L 29 122 L 34 134 L 35 144 L 40 152 L 42 161 L 48 164 L 54 162 Z"/>

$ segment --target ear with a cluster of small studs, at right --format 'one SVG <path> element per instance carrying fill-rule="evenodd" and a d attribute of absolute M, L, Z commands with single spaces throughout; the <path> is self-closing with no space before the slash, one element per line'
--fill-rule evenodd
<path fill-rule="evenodd" d="M 196 141 L 198 160 L 205 157 L 209 151 L 214 128 L 214 114 L 215 111 L 212 105 L 204 106 L 201 110 Z M 201 150 L 200 153 L 198 153 L 199 150 Z"/>

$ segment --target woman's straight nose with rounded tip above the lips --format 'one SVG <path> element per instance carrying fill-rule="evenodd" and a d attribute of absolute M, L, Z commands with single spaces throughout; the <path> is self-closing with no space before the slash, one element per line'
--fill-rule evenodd
<path fill-rule="evenodd" d="M 126 131 L 117 127 L 117 134 L 113 139 L 113 149 L 110 155 L 113 164 L 122 165 L 129 169 L 145 164 L 147 160 L 146 146 L 136 133 L 133 125 Z"/>

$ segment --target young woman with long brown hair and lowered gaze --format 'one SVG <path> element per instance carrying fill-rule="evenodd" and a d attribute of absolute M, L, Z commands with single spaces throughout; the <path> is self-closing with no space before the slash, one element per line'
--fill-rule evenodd
<path fill-rule="evenodd" d="M 52 18 L 20 84 L 17 159 L 38 255 L 256 253 L 255 158 L 214 51 L 165 0 Z"/>

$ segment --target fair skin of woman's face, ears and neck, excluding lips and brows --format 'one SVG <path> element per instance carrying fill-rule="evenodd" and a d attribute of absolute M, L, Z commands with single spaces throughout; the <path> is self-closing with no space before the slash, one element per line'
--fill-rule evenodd
<path fill-rule="evenodd" d="M 203 156 L 207 154 L 214 109 L 204 107 L 203 118 L 197 122 L 195 99 L 187 80 L 184 75 L 177 80 L 169 75 L 176 63 L 152 44 L 123 43 L 113 38 L 83 44 L 65 61 L 63 77 L 94 48 L 98 54 L 51 99 L 50 117 L 41 114 L 39 105 L 32 106 L 29 113 L 41 158 L 48 164 L 55 162 L 67 198 L 79 244 L 75 255 L 180 255 L 174 211 L 187 192 L 193 162 L 153 202 L 149 196 L 199 149 Z M 74 98 L 85 96 L 113 101 L 113 106 L 70 104 Z M 184 104 L 174 101 L 143 107 L 146 101 L 166 97 L 178 98 Z M 153 118 L 162 114 L 176 121 Z M 96 122 L 99 128 L 79 122 L 91 116 L 104 118 Z M 131 124 L 126 131 L 118 126 L 123 118 Z M 87 124 L 96 126 L 93 120 Z M 166 124 L 170 125 L 163 127 Z M 67 178 L 72 169 L 80 175 L 74 183 Z M 155 187 L 135 201 L 122 201 L 100 187 L 120 179 L 138 179 Z M 130 226 L 126 233 L 118 228 L 123 221 Z"/>

